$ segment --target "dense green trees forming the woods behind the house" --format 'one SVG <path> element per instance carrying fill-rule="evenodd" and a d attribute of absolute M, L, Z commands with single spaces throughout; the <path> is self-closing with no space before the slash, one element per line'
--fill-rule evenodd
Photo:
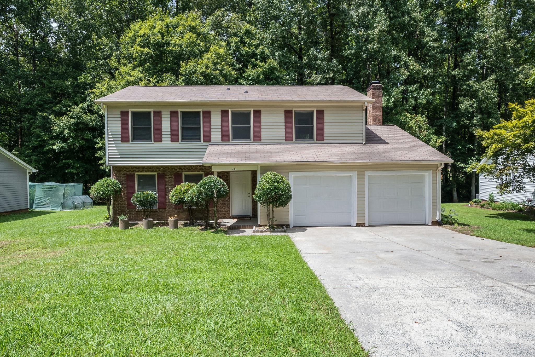
<path fill-rule="evenodd" d="M 128 85 L 384 86 L 384 121 L 455 160 L 468 199 L 476 135 L 534 97 L 535 0 L 0 2 L 0 146 L 34 179 L 105 176 L 93 100 Z"/>

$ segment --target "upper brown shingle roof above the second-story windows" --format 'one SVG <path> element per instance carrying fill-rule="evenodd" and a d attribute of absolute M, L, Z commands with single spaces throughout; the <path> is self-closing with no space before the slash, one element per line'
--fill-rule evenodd
<path fill-rule="evenodd" d="M 226 90 L 230 88 L 231 90 Z M 247 90 L 249 93 L 243 93 Z M 130 86 L 95 102 L 368 101 L 347 86 Z"/>

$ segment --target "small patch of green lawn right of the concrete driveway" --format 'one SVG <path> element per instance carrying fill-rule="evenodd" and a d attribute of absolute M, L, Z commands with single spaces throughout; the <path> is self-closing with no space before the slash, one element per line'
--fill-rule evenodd
<path fill-rule="evenodd" d="M 460 225 L 450 228 L 471 236 L 535 247 L 535 221 L 516 212 L 494 211 L 465 206 L 467 203 L 444 203 L 458 214 Z"/>

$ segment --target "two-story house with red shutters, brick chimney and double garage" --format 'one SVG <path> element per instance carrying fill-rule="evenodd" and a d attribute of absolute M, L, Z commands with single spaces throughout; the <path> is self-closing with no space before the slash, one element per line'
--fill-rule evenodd
<path fill-rule="evenodd" d="M 158 194 L 153 218 L 187 219 L 169 201 L 171 189 L 214 174 L 230 188 L 220 217 L 264 224 L 252 197 L 262 174 L 276 171 L 293 193 L 277 224 L 440 219 L 440 168 L 452 159 L 382 125 L 379 82 L 368 96 L 346 86 L 131 86 L 96 103 L 106 115 L 106 164 L 124 187 L 115 215 L 142 218 L 130 200 L 150 190 Z"/>

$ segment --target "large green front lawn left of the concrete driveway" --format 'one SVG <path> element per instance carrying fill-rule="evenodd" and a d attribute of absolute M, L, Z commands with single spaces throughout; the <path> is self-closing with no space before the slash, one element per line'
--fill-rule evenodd
<path fill-rule="evenodd" d="M 0 355 L 364 356 L 288 236 L 0 216 Z"/>

